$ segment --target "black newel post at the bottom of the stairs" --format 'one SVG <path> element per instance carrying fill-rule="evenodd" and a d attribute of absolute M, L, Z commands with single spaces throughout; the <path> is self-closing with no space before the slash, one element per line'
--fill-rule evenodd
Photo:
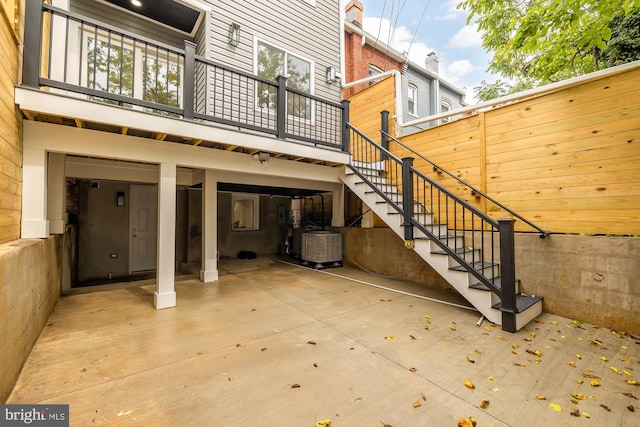
<path fill-rule="evenodd" d="M 513 218 L 498 219 L 500 232 L 500 277 L 502 286 L 502 329 L 516 332 L 516 257 Z"/>

